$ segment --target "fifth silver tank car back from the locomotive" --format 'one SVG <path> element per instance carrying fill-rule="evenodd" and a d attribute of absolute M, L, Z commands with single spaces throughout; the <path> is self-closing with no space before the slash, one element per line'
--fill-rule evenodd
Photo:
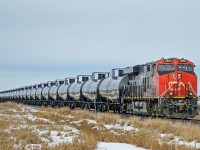
<path fill-rule="evenodd" d="M 57 100 L 58 97 L 58 89 L 62 84 L 64 84 L 64 80 L 56 80 L 56 84 L 53 85 L 49 90 L 49 96 L 52 100 Z"/>

